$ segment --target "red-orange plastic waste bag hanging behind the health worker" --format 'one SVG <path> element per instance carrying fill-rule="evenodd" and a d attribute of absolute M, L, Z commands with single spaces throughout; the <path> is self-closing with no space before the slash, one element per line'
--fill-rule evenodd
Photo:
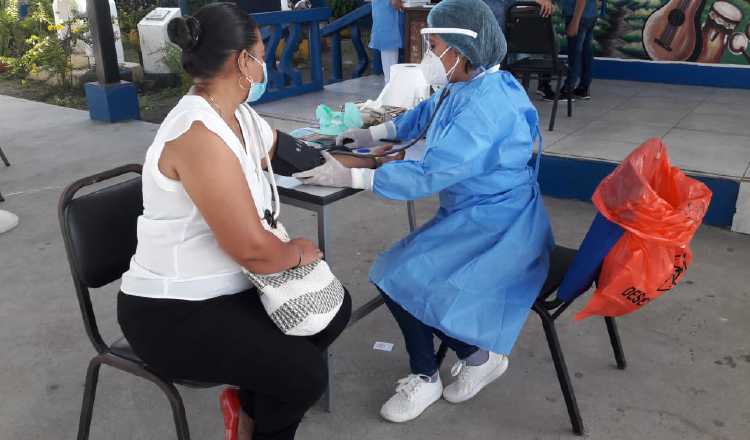
<path fill-rule="evenodd" d="M 625 233 L 604 259 L 596 292 L 576 319 L 634 312 L 677 285 L 692 261 L 689 243 L 711 191 L 670 166 L 666 145 L 650 139 L 602 180 L 593 202 Z"/>

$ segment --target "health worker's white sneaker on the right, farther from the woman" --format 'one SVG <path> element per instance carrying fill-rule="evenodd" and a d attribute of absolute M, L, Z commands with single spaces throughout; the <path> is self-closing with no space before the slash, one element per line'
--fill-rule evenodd
<path fill-rule="evenodd" d="M 443 397 L 451 403 L 465 402 L 502 376 L 507 369 L 508 356 L 492 352 L 487 362 L 476 367 L 467 365 L 465 360 L 458 361 L 451 368 L 451 375 L 458 377 L 445 387 Z"/>

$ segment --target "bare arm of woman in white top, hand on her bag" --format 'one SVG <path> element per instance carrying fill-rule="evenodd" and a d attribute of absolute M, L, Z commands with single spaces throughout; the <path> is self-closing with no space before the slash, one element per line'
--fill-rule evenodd
<path fill-rule="evenodd" d="M 166 144 L 159 168 L 182 182 L 219 246 L 249 271 L 275 273 L 318 257 L 309 241 L 283 243 L 263 228 L 239 161 L 200 122 Z"/>

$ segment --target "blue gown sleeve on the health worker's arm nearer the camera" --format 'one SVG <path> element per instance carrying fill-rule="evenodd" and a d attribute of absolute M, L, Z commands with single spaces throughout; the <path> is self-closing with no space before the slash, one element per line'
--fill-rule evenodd
<path fill-rule="evenodd" d="M 497 166 L 502 140 L 521 123 L 512 112 L 503 113 L 477 107 L 461 112 L 441 130 L 442 136 L 430 139 L 421 161 L 394 161 L 378 168 L 373 192 L 391 200 L 419 199 Z"/>

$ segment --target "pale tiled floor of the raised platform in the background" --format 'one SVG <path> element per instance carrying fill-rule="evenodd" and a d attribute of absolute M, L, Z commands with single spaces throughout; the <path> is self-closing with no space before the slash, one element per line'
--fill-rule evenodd
<path fill-rule="evenodd" d="M 381 88 L 380 77 L 366 77 L 258 110 L 280 119 L 314 122 L 318 104 L 338 107 L 375 98 Z M 672 162 L 687 171 L 750 178 L 750 90 L 595 80 L 591 94 L 590 101 L 573 104 L 572 118 L 560 102 L 552 132 L 546 130 L 552 104 L 534 98 L 547 154 L 619 162 L 645 140 L 662 137 Z"/>

